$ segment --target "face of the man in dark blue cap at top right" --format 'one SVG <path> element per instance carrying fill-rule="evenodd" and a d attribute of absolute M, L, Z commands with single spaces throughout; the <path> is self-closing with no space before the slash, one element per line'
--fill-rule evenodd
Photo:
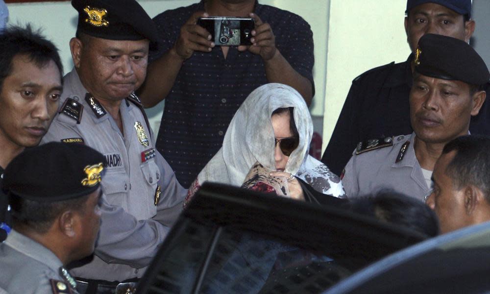
<path fill-rule="evenodd" d="M 465 22 L 463 15 L 436 3 L 417 5 L 405 18 L 405 32 L 412 52 L 415 52 L 418 40 L 425 34 L 444 35 L 468 42 L 474 28 L 474 21 Z"/>

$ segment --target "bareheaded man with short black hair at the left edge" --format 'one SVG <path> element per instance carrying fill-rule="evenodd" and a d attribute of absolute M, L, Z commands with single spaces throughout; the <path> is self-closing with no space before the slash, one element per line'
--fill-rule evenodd
<path fill-rule="evenodd" d="M 46 134 L 58 110 L 63 66 L 58 49 L 30 26 L 5 28 L 0 33 L 0 44 L 0 173 L 3 174 L 17 154 L 25 147 L 37 146 Z M 3 228 L 0 242 L 6 237 L 8 220 L 7 199 L 0 192 Z"/>

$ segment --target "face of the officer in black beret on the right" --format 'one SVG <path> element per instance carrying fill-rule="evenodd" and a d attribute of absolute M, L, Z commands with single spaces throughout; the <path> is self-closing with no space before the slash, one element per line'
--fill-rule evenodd
<path fill-rule="evenodd" d="M 461 81 L 416 73 L 410 91 L 410 120 L 417 137 L 426 143 L 446 143 L 466 135 L 471 116 L 481 107 L 469 90 Z"/>

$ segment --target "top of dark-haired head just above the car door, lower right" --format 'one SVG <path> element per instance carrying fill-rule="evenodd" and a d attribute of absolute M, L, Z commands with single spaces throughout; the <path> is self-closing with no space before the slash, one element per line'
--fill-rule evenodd
<path fill-rule="evenodd" d="M 403 226 L 429 237 L 439 234 L 439 220 L 427 204 L 392 190 L 353 198 L 347 207 L 353 212 Z"/>

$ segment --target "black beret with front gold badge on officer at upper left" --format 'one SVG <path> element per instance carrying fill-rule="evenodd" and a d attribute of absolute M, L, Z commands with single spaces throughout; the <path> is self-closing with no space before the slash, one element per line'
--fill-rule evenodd
<path fill-rule="evenodd" d="M 155 23 L 136 0 L 72 0 L 77 33 L 108 40 L 158 42 Z"/>

